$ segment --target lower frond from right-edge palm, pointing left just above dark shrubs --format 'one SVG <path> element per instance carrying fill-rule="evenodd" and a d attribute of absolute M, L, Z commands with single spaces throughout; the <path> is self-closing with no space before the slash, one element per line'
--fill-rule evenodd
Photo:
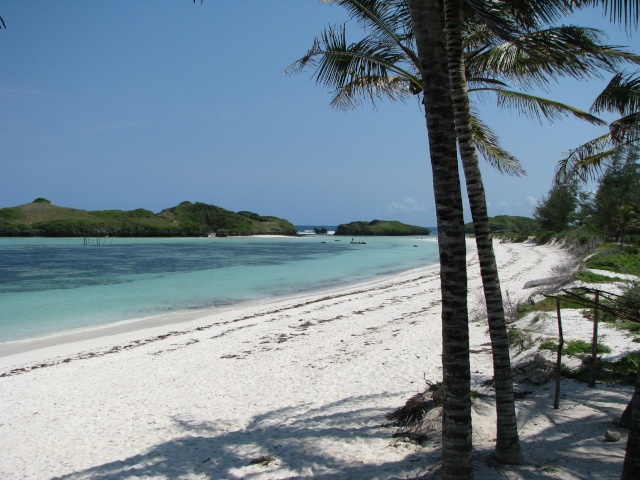
<path fill-rule="evenodd" d="M 574 150 L 558 162 L 556 180 L 578 178 L 583 182 L 597 179 L 604 167 L 619 152 L 609 133 L 594 138 Z"/>

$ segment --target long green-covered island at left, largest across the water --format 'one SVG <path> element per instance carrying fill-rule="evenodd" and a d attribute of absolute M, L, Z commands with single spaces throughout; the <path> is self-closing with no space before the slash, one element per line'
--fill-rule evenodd
<path fill-rule="evenodd" d="M 41 237 L 202 237 L 291 235 L 287 220 L 253 212 L 231 212 L 205 203 L 182 202 L 153 213 L 137 210 L 77 210 L 45 198 L 0 209 L 0 236 Z"/>

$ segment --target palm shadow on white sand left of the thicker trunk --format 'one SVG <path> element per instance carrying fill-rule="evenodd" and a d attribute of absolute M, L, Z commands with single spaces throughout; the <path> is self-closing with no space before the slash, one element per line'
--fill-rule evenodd
<path fill-rule="evenodd" d="M 282 408 L 253 417 L 241 429 L 227 430 L 224 425 L 175 417 L 174 421 L 183 430 L 183 435 L 128 458 L 56 479 L 346 480 L 415 476 L 426 463 L 437 461 L 439 452 L 409 448 L 407 445 L 394 446 L 391 430 L 381 428 L 387 412 L 367 407 L 375 405 L 376 400 L 383 397 L 385 395 L 371 395 L 320 407 Z M 332 445 L 327 449 L 328 441 Z M 341 457 L 336 445 L 350 454 Z M 397 454 L 392 456 L 395 460 L 386 463 L 376 461 L 373 452 L 380 448 L 396 448 Z M 357 452 L 362 455 L 353 460 L 358 458 Z M 430 455 L 434 457 L 431 460 Z"/>

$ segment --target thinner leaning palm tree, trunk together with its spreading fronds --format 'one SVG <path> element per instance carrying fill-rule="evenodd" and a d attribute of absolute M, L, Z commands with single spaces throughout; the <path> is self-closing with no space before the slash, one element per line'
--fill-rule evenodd
<path fill-rule="evenodd" d="M 363 97 L 372 102 L 381 97 L 401 100 L 412 93 L 422 92 L 422 76 L 413 44 L 411 24 L 407 18 L 406 3 L 376 0 L 338 0 L 336 3 L 346 7 L 352 18 L 361 22 L 367 29 L 367 36 L 360 42 L 347 45 L 344 26 L 329 27 L 320 38 L 315 40 L 309 52 L 294 63 L 288 71 L 299 71 L 309 65 L 315 67 L 317 81 L 336 88 L 332 105 L 337 108 L 358 106 Z M 457 4 L 454 8 L 461 9 L 462 4 Z M 452 16 L 456 17 L 456 15 L 448 15 L 447 19 Z M 528 16 L 528 18 L 531 17 Z M 556 75 L 585 76 L 592 74 L 596 65 L 611 67 L 621 57 L 625 58 L 625 52 L 602 47 L 597 43 L 598 36 L 595 32 L 585 32 L 575 27 L 544 31 L 531 29 L 532 32 L 528 35 L 511 39 L 507 43 L 498 41 L 499 39 L 490 30 L 481 28 L 483 25 L 472 25 L 472 35 L 467 32 L 467 38 L 471 38 L 467 41 L 467 49 L 470 50 L 467 54 L 469 66 L 467 76 L 469 84 L 474 85 L 472 90 L 494 91 L 498 94 L 502 105 L 517 103 L 520 108 L 550 120 L 569 112 L 589 121 L 598 121 L 595 117 L 566 105 L 508 89 L 508 85 L 499 78 L 508 75 L 513 77 L 511 71 L 501 70 L 505 64 L 509 63 L 504 59 L 511 59 L 510 66 L 513 71 L 521 72 L 522 83 L 539 84 L 546 78 L 540 74 L 541 69 Z M 518 45 L 525 44 L 531 50 L 541 45 L 548 45 L 551 40 L 555 42 L 553 46 L 556 49 L 562 48 L 565 54 L 562 62 L 555 61 L 553 57 L 540 59 L 540 55 L 534 58 L 518 48 Z M 455 97 L 457 100 L 454 100 L 454 106 L 463 106 L 463 110 L 456 108 L 458 113 L 456 124 L 459 127 L 457 135 L 474 220 L 493 345 L 498 410 L 496 457 L 504 463 L 522 463 L 502 295 L 488 226 L 484 188 L 473 142 L 490 163 L 503 171 L 519 174 L 522 169 L 512 155 L 500 148 L 497 137 L 476 117 L 470 117 L 468 102 L 465 102 L 467 82 L 462 62 L 462 48 L 451 56 L 453 52 L 451 46 L 454 42 L 451 38 L 448 42 L 449 63 L 455 62 L 456 58 L 460 59 L 457 64 L 460 71 L 457 77 L 460 89 Z M 567 62 L 567 57 L 571 57 L 573 62 Z M 567 66 L 571 63 L 575 66 Z M 481 68 L 482 65 L 485 67 Z M 493 71 L 486 65 L 491 65 Z M 456 75 L 455 72 L 454 67 L 452 77 Z M 472 74 L 469 75 L 469 72 Z M 466 107 L 464 107 L 465 103 Z M 469 122 L 472 127 L 465 130 Z"/>

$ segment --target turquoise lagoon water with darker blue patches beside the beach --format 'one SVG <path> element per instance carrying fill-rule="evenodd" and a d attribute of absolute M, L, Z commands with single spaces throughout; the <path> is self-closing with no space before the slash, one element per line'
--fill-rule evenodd
<path fill-rule="evenodd" d="M 407 237 L 0 238 L 0 342 L 260 300 L 433 265 Z M 417 245 L 414 246 L 414 245 Z"/>

